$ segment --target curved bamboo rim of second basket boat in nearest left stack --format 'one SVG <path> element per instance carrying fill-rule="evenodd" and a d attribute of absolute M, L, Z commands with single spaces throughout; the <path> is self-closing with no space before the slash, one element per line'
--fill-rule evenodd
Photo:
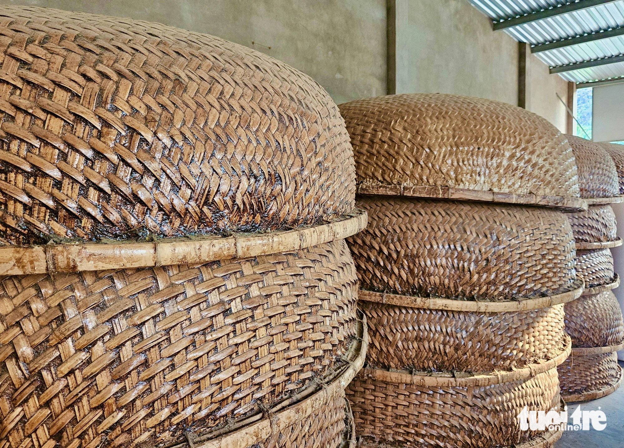
<path fill-rule="evenodd" d="M 192 448 L 249 448 L 256 444 L 262 444 L 274 434 L 279 434 L 296 422 L 306 419 L 314 411 L 326 406 L 333 397 L 340 394 L 344 396 L 344 389 L 364 366 L 364 359 L 368 350 L 368 327 L 364 316 L 359 320 L 358 334 L 361 334 L 361 337 L 348 354 L 348 366 L 337 377 L 334 377 L 334 381 L 323 384 L 318 392 L 285 409 L 283 404 L 278 404 L 273 409 L 266 411 L 263 415 L 267 417 L 260 421 L 253 421 L 255 417 L 251 417 L 251 422 L 246 426 L 243 426 L 246 422 L 240 422 L 237 425 L 238 429 L 212 440 L 206 440 L 208 437 L 214 437 L 212 434 L 195 439 L 190 437 L 191 442 L 188 443 L 188 446 Z M 219 433 L 222 434 L 223 430 Z M 351 438 L 353 439 L 353 437 Z M 178 446 L 181 447 L 182 445 Z"/>

